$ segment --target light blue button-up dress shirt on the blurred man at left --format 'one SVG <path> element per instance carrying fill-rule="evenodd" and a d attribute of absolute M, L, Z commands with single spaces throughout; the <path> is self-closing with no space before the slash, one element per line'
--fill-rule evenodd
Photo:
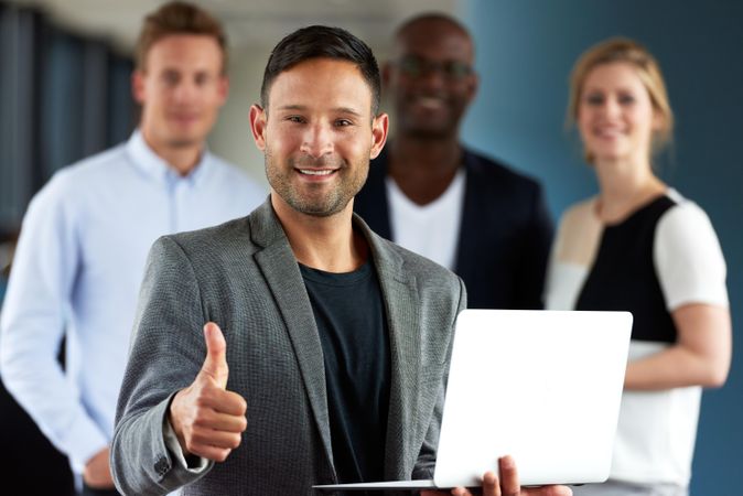
<path fill-rule="evenodd" d="M 33 198 L 0 314 L 0 373 L 74 472 L 110 443 L 152 242 L 245 216 L 266 194 L 208 152 L 180 176 L 136 131 L 61 170 Z"/>

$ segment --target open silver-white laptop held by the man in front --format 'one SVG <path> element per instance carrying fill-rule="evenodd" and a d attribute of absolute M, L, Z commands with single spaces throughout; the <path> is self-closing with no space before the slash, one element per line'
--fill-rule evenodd
<path fill-rule="evenodd" d="M 476 487 L 498 457 L 523 485 L 609 477 L 628 312 L 465 310 L 456 321 L 433 479 L 317 489 Z"/>

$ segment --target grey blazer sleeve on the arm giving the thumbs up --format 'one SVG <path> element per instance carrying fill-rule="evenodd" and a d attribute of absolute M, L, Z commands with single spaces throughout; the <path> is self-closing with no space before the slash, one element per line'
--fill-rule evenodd
<path fill-rule="evenodd" d="M 163 434 L 173 396 L 194 380 L 206 356 L 203 309 L 186 254 L 172 238 L 160 238 L 147 262 L 111 444 L 122 494 L 168 494 L 213 466 L 198 474 L 182 467 Z"/>

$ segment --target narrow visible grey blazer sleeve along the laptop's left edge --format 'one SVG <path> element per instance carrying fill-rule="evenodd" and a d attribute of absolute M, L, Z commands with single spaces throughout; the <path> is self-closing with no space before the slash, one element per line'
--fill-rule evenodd
<path fill-rule="evenodd" d="M 433 478 L 433 470 L 435 467 L 437 461 L 437 449 L 439 445 L 439 434 L 441 433 L 441 419 L 444 411 L 444 396 L 446 391 L 446 381 L 449 379 L 449 364 L 451 362 L 452 354 L 452 344 L 454 343 L 454 325 L 456 324 L 456 316 L 467 306 L 467 294 L 464 287 L 464 282 L 461 278 L 457 278 L 460 283 L 459 291 L 459 305 L 456 308 L 456 313 L 451 319 L 450 333 L 452 338 L 449 339 L 449 349 L 446 351 L 445 367 L 444 373 L 441 377 L 441 385 L 439 388 L 439 397 L 437 399 L 435 407 L 433 408 L 433 416 L 431 417 L 431 423 L 429 424 L 426 438 L 423 440 L 423 445 L 421 446 L 420 453 L 418 455 L 418 461 L 412 472 L 412 479 L 426 479 Z"/>

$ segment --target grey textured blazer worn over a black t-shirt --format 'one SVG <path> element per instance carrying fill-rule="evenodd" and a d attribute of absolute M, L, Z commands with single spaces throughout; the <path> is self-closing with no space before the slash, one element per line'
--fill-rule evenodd
<path fill-rule="evenodd" d="M 388 479 L 429 478 L 435 463 L 462 281 L 355 227 L 370 246 L 390 333 Z M 196 377 L 205 322 L 227 341 L 227 388 L 248 405 L 241 444 L 202 474 L 165 448 L 175 391 Z M 119 395 L 111 466 L 127 495 L 310 495 L 335 483 L 322 348 L 297 260 L 270 201 L 248 217 L 160 238 L 142 283 Z"/>

